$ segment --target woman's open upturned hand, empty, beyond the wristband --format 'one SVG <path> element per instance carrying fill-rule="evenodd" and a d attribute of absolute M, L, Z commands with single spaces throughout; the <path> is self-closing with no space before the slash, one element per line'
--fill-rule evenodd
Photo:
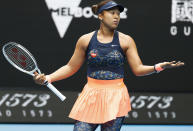
<path fill-rule="evenodd" d="M 181 61 L 171 61 L 171 62 L 162 62 L 159 63 L 159 65 L 163 68 L 163 69 L 167 69 L 167 68 L 175 68 L 175 67 L 180 67 L 180 66 L 184 66 L 185 63 L 181 62 Z"/>

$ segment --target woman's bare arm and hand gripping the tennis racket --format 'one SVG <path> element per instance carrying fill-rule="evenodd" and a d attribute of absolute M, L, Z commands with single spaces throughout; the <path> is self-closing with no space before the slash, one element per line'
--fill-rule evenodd
<path fill-rule="evenodd" d="M 74 54 L 72 55 L 69 62 L 55 72 L 46 76 L 49 78 L 49 82 L 62 80 L 76 73 L 84 63 L 88 43 L 88 35 L 81 36 L 76 43 Z M 43 84 L 46 80 L 46 77 L 44 74 L 35 73 L 34 81 L 37 84 Z"/>

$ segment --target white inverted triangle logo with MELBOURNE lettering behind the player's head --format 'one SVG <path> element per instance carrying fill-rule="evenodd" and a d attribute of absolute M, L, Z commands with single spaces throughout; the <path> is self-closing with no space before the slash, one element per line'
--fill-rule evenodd
<path fill-rule="evenodd" d="M 52 19 L 59 32 L 60 38 L 63 38 L 72 19 L 75 18 L 97 18 L 92 13 L 91 7 L 79 7 L 81 0 L 45 0 L 51 13 Z M 120 14 L 121 19 L 127 18 L 127 8 Z"/>

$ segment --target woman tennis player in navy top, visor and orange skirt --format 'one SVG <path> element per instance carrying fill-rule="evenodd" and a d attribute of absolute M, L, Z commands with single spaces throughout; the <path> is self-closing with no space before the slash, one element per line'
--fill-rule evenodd
<path fill-rule="evenodd" d="M 36 73 L 34 80 L 43 84 L 45 80 L 65 79 L 77 72 L 86 59 L 88 82 L 69 114 L 76 120 L 74 131 L 94 131 L 99 124 L 102 130 L 119 131 L 125 115 L 131 110 L 129 94 L 123 83 L 125 58 L 136 76 L 158 73 L 184 63 L 143 65 L 134 40 L 116 31 L 123 6 L 104 0 L 93 5 L 92 10 L 98 15 L 100 29 L 79 38 L 75 52 L 65 66 L 46 76 Z"/>

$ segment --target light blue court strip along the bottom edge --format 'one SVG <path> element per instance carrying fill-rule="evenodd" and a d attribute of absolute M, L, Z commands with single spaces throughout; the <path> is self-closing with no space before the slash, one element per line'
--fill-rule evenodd
<path fill-rule="evenodd" d="M 72 131 L 72 124 L 0 124 L 0 131 Z M 123 125 L 121 131 L 193 131 L 193 125 Z M 96 129 L 100 131 L 100 126 Z"/>

